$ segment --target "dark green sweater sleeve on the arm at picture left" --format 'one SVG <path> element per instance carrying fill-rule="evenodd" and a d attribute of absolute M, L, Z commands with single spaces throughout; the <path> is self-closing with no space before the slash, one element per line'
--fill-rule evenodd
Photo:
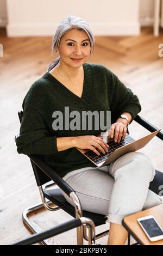
<path fill-rule="evenodd" d="M 16 139 L 19 154 L 49 155 L 58 153 L 57 137 L 49 136 L 45 120 L 41 114 L 41 103 L 38 95 L 27 93 L 23 101 L 23 117 L 20 135 Z"/>

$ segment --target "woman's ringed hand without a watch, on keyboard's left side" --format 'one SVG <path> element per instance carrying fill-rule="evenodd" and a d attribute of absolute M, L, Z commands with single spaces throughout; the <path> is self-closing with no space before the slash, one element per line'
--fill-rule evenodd
<path fill-rule="evenodd" d="M 93 135 L 77 136 L 73 138 L 73 145 L 79 149 L 90 149 L 97 155 L 100 155 L 97 149 L 103 154 L 108 152 L 109 145 L 101 137 Z"/>

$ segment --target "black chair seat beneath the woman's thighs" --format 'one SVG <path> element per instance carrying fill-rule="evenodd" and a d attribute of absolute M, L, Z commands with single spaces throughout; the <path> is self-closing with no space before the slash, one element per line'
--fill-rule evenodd
<path fill-rule="evenodd" d="M 62 195 L 60 188 L 46 190 L 43 191 L 43 193 L 47 199 L 51 200 L 51 202 L 59 206 L 62 210 L 66 211 L 67 214 L 70 214 L 74 218 L 76 217 L 75 208 L 66 201 L 65 197 Z M 89 211 L 83 210 L 83 217 L 91 218 L 96 226 L 105 224 L 106 222 L 105 215 L 94 214 L 93 212 Z"/>

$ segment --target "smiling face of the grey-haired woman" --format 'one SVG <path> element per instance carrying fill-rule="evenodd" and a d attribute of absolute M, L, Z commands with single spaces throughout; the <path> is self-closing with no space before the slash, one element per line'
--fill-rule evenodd
<path fill-rule="evenodd" d="M 90 57 L 90 51 L 91 46 L 87 34 L 83 31 L 78 31 L 76 28 L 68 31 L 60 40 L 60 60 L 74 68 L 79 68 L 86 62 Z"/>

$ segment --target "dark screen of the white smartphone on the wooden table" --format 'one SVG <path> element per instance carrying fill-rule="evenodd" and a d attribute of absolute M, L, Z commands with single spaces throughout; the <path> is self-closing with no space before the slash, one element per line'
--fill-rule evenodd
<path fill-rule="evenodd" d="M 154 218 L 148 218 L 147 220 L 140 221 L 143 228 L 147 231 L 150 237 L 163 235 L 159 225 L 155 222 Z"/>

